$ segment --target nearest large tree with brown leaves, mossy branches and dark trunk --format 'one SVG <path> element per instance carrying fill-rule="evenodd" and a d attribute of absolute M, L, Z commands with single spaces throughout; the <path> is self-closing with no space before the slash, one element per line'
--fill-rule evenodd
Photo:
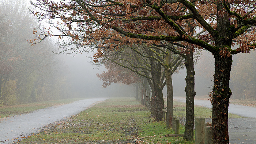
<path fill-rule="evenodd" d="M 213 142 L 228 144 L 228 103 L 232 55 L 255 49 L 255 0 L 69 0 L 54 3 L 37 0 L 34 14 L 59 30 L 34 30 L 37 43 L 58 36 L 63 51 L 97 48 L 98 61 L 107 49 L 120 45 L 166 41 L 180 45 L 184 53 L 206 49 L 215 58 L 212 90 Z M 195 27 L 191 32 L 191 25 Z M 202 31 L 200 31 L 202 30 Z M 199 32 L 200 31 L 200 32 Z M 69 39 L 63 39 L 68 37 Z M 67 48 L 67 45 L 73 45 Z M 233 46 L 239 47 L 234 49 Z M 167 48 L 167 47 L 166 47 Z M 168 49 L 168 48 L 167 48 Z M 186 51 L 185 51 L 186 50 Z"/>

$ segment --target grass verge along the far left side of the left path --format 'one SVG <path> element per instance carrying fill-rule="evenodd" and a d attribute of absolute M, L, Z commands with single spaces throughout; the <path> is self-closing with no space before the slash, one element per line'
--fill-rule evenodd
<path fill-rule="evenodd" d="M 0 107 L 0 118 L 7 116 L 19 115 L 22 113 L 28 113 L 37 109 L 51 107 L 53 105 L 68 104 L 73 101 L 82 100 L 85 98 L 73 98 L 73 99 L 62 99 L 62 100 L 50 100 L 42 101 L 37 103 L 28 103 L 22 105 L 13 105 L 8 107 Z"/>

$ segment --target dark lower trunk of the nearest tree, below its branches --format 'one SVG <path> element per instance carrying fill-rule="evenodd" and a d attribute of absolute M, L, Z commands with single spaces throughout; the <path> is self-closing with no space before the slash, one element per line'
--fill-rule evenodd
<path fill-rule="evenodd" d="M 228 108 L 231 90 L 229 78 L 232 65 L 232 56 L 221 57 L 214 55 L 215 73 L 212 93 L 212 135 L 214 144 L 229 144 L 227 127 Z"/>

